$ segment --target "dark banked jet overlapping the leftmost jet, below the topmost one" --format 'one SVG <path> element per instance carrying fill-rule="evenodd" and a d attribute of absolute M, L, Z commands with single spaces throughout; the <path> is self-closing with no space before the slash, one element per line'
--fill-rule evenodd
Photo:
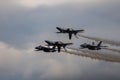
<path fill-rule="evenodd" d="M 72 45 L 73 43 L 63 43 L 61 41 L 48 41 L 48 40 L 45 40 L 45 42 L 48 44 L 48 46 L 53 46 L 53 48 L 56 48 L 58 49 L 58 52 L 61 51 L 61 47 L 63 47 L 65 49 L 65 47 L 67 45 Z M 66 50 L 66 49 L 65 49 Z"/>

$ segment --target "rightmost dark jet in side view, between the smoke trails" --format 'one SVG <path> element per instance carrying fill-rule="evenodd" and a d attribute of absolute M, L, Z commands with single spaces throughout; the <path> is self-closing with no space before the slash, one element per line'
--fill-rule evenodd
<path fill-rule="evenodd" d="M 100 42 L 98 43 L 98 45 L 94 45 L 94 42 L 92 43 L 92 45 L 91 45 L 91 44 L 84 43 L 84 44 L 80 45 L 80 47 L 81 47 L 81 49 L 83 49 L 83 48 L 88 48 L 89 50 L 100 50 L 100 49 L 102 49 L 102 48 L 107 47 L 107 46 L 101 46 L 101 44 L 102 44 L 102 41 L 100 41 Z"/>

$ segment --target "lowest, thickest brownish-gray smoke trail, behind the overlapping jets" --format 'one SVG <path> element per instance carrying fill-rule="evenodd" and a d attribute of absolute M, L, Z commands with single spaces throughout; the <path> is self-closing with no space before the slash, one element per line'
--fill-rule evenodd
<path fill-rule="evenodd" d="M 68 48 L 68 49 L 67 51 L 63 51 L 63 52 L 78 55 L 78 56 L 89 57 L 91 59 L 97 59 L 97 60 L 103 60 L 103 61 L 109 61 L 109 62 L 120 62 L 120 56 L 113 56 L 110 54 L 96 52 L 96 51 L 93 52 L 89 50 L 79 50 L 75 48 Z"/>

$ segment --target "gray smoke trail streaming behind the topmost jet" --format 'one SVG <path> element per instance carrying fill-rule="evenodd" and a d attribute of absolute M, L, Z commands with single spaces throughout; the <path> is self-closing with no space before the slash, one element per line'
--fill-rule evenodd
<path fill-rule="evenodd" d="M 81 34 L 78 34 L 78 36 L 87 38 L 87 39 L 92 39 L 95 41 L 103 41 L 104 43 L 115 45 L 115 46 L 120 46 L 119 41 L 107 40 L 107 39 L 102 39 L 102 38 L 97 38 L 97 37 L 90 37 L 90 36 L 85 36 L 85 35 L 81 35 Z"/>

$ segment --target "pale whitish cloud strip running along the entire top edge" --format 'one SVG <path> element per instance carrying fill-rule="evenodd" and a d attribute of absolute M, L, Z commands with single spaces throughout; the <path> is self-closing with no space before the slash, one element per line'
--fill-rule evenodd
<path fill-rule="evenodd" d="M 116 4 L 119 2 L 118 0 L 1 0 L 1 5 L 16 5 L 16 6 L 21 6 L 24 8 L 37 8 L 39 6 L 58 6 L 58 5 L 66 5 L 70 4 L 75 5 L 79 4 L 80 7 L 89 7 L 89 6 L 96 6 L 96 5 L 104 5 L 104 3 L 112 3 Z"/>

